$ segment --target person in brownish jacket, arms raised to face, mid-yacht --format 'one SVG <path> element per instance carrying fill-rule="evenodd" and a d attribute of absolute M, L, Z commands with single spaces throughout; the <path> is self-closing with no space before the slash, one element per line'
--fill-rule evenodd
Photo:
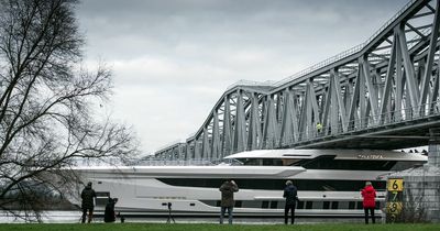
<path fill-rule="evenodd" d="M 234 180 L 227 180 L 220 186 L 221 191 L 221 215 L 220 215 L 220 223 L 223 223 L 224 212 L 228 209 L 229 215 L 229 223 L 232 224 L 232 211 L 233 206 L 235 204 L 233 199 L 233 194 L 239 191 L 239 186 Z"/>

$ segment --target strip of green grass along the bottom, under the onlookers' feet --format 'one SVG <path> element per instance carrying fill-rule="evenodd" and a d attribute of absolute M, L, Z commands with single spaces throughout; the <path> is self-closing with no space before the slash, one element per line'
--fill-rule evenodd
<path fill-rule="evenodd" d="M 440 224 L 166 224 L 166 223 L 34 223 L 34 224 L 0 224 L 0 231 L 438 231 Z"/>

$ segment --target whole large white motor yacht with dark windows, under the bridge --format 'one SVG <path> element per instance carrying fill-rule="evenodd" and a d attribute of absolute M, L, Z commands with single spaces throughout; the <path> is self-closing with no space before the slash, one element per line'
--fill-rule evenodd
<path fill-rule="evenodd" d="M 243 152 L 228 160 L 241 164 L 97 166 L 75 172 L 84 182 L 94 183 L 98 210 L 110 196 L 119 198 L 117 209 L 124 213 L 167 216 L 170 204 L 175 216 L 218 216 L 218 188 L 232 178 L 240 188 L 234 216 L 277 217 L 284 213 L 283 189 L 290 179 L 300 199 L 297 216 L 355 217 L 363 215 L 360 190 L 366 180 L 378 190 L 380 204 L 385 198 L 383 176 L 424 164 L 427 156 L 382 150 L 292 148 Z"/>

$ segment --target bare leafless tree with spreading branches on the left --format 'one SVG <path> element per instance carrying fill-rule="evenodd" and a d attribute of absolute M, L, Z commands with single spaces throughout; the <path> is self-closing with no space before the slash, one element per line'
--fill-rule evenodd
<path fill-rule="evenodd" d="M 111 72 L 81 68 L 77 3 L 0 0 L 0 208 L 10 212 L 37 211 L 33 195 L 56 190 L 46 174 L 65 173 L 57 169 L 77 158 L 135 153 L 128 128 L 94 117 Z"/>

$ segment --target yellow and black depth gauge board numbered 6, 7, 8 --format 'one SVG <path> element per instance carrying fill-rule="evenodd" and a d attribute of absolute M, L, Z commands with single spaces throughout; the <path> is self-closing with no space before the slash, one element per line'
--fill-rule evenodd
<path fill-rule="evenodd" d="M 402 213 L 403 209 L 404 179 L 388 178 L 386 185 L 387 185 L 386 222 L 394 223 L 398 221 L 398 217 Z"/>

